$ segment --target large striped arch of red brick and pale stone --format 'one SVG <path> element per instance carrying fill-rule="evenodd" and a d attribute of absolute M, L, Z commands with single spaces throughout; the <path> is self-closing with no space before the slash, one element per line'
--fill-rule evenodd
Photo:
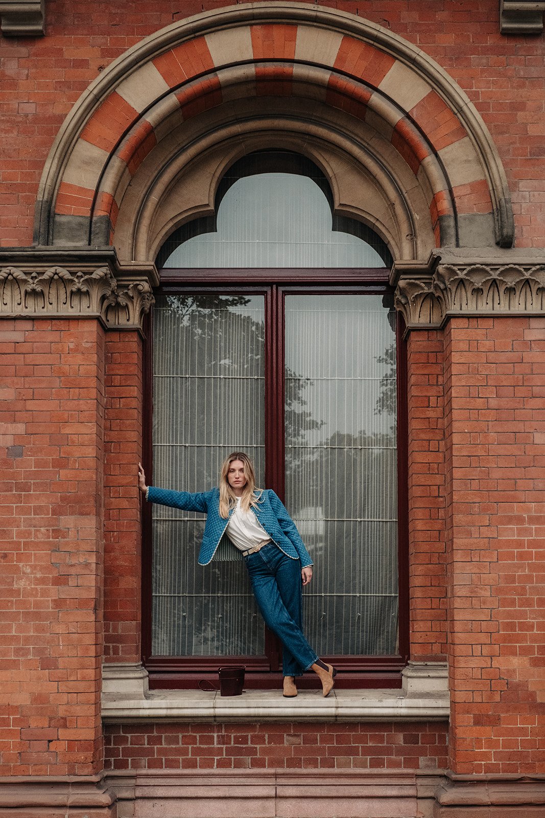
<path fill-rule="evenodd" d="M 309 133 L 321 128 L 323 142 L 346 123 L 351 138 L 343 150 L 369 163 L 373 178 L 393 180 L 388 195 L 404 201 L 407 223 L 400 232 L 412 235 L 427 221 L 420 245 L 391 248 L 398 258 L 422 257 L 433 245 L 511 245 L 511 205 L 498 154 L 448 74 L 380 26 L 336 10 L 276 2 L 169 26 L 103 72 L 51 151 L 37 215 L 39 243 L 115 243 L 126 191 L 131 183 L 142 185 L 140 169 L 153 164 L 150 155 L 161 154 L 159 164 L 167 167 L 185 134 L 188 144 L 209 142 L 212 133 L 229 133 L 252 117 L 252 133 L 258 133 L 263 111 L 270 119 L 285 113 L 292 122 L 306 116 Z M 175 144 L 166 150 L 173 133 Z M 300 143 L 305 152 L 302 134 Z M 408 192 L 417 188 L 427 209 L 423 220 L 414 217 L 418 205 Z M 364 218 L 381 231 L 372 210 Z M 386 227 L 382 233 L 389 240 Z"/>

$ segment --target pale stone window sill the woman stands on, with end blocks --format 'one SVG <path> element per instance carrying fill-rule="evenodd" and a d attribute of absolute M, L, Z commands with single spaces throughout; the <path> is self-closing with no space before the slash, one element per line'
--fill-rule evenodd
<path fill-rule="evenodd" d="M 446 665 L 409 663 L 403 690 L 302 690 L 284 699 L 281 690 L 245 690 L 221 696 L 200 690 L 147 689 L 141 665 L 103 668 L 102 718 L 122 721 L 447 721 Z"/>

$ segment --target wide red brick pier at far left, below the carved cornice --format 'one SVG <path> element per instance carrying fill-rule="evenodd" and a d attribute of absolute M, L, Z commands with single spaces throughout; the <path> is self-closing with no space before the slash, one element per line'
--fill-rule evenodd
<path fill-rule="evenodd" d="M 0 323 L 0 775 L 102 766 L 104 332 Z"/>

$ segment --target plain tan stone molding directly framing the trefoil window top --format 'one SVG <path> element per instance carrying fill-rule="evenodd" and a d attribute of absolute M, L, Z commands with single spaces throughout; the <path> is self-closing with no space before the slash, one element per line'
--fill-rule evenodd
<path fill-rule="evenodd" d="M 115 233 L 118 254 L 154 258 L 176 227 L 214 212 L 217 184 L 231 164 L 273 146 L 304 152 L 330 181 L 335 212 L 373 227 L 396 257 L 426 254 L 434 241 L 431 226 L 415 222 L 418 213 L 427 211 L 427 200 L 400 156 L 370 128 L 364 128 L 369 132 L 364 145 L 360 134 L 350 131 L 351 117 L 343 115 L 346 123 L 342 119 L 339 127 L 338 115 L 328 121 L 327 106 L 317 115 L 318 102 L 303 102 L 290 99 L 278 107 L 269 99 L 244 102 L 246 117 L 235 123 L 205 114 L 198 128 L 174 128 L 123 193 Z"/>

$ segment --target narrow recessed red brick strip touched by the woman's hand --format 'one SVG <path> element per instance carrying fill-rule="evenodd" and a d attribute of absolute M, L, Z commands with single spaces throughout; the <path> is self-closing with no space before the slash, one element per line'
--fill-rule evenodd
<path fill-rule="evenodd" d="M 142 447 L 142 341 L 106 335 L 105 660 L 141 658 L 141 524 L 136 464 Z"/>

